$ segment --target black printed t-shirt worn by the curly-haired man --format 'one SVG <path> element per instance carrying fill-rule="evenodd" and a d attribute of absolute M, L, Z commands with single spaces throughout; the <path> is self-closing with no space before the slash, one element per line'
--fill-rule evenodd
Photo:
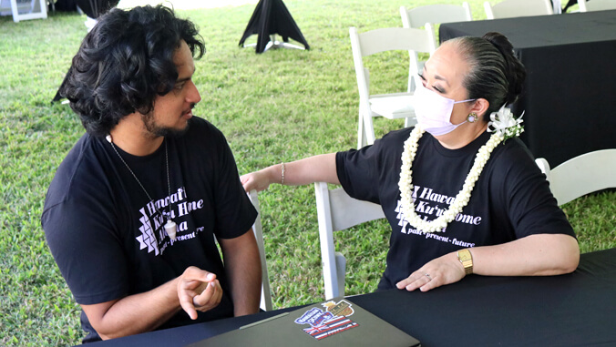
<path fill-rule="evenodd" d="M 186 134 L 166 138 L 149 156 L 116 148 L 152 201 L 111 144 L 87 134 L 68 153 L 47 191 L 41 222 L 75 300 L 89 305 L 149 291 L 196 266 L 217 275 L 220 305 L 199 312 L 197 321 L 180 311 L 159 329 L 232 317 L 229 282 L 214 235 L 243 235 L 256 210 L 221 131 L 193 117 Z M 175 241 L 163 228 L 161 214 L 169 210 L 178 225 Z M 84 314 L 82 327 L 94 332 Z"/>

